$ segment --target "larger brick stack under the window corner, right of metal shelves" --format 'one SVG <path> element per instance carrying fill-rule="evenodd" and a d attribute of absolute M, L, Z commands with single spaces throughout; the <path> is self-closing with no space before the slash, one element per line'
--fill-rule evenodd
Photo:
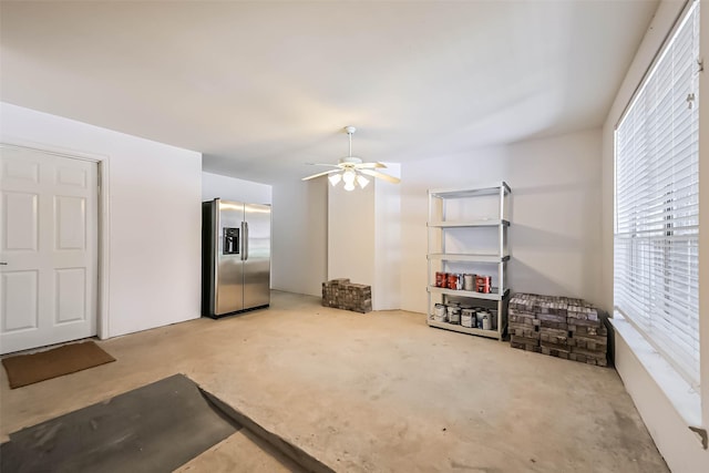
<path fill-rule="evenodd" d="M 603 312 L 582 299 L 515 294 L 507 317 L 513 348 L 602 367 L 608 363 Z"/>

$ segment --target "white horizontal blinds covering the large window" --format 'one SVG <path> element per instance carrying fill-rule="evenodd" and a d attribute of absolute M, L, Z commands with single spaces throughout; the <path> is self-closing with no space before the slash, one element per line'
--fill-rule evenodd
<path fill-rule="evenodd" d="M 699 384 L 699 1 L 616 128 L 614 305 Z"/>

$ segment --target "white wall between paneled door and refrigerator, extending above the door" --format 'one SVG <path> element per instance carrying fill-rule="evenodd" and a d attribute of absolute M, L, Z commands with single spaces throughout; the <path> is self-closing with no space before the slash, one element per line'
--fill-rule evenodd
<path fill-rule="evenodd" d="M 202 155 L 7 103 L 0 116 L 3 142 L 106 156 L 107 335 L 199 317 Z"/>

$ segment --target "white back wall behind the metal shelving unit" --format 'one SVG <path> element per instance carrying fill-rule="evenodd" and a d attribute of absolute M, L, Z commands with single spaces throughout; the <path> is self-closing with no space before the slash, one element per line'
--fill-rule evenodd
<path fill-rule="evenodd" d="M 513 291 L 600 299 L 600 130 L 472 150 L 402 169 L 401 306 L 427 310 L 427 189 L 512 188 Z"/>

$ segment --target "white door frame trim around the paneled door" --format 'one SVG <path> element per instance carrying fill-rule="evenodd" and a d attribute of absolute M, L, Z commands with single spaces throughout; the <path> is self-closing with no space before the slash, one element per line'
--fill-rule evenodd
<path fill-rule="evenodd" d="M 103 340 L 110 337 L 110 310 L 109 310 L 109 279 L 111 269 L 111 239 L 109 235 L 110 229 L 110 189 L 109 183 L 111 182 L 110 168 L 111 157 L 109 155 L 97 153 L 86 153 L 82 151 L 75 151 L 70 148 L 63 148 L 60 146 L 48 145 L 44 143 L 34 143 L 23 140 L 3 138 L 0 141 L 0 147 L 10 147 L 16 150 L 29 150 L 54 156 L 66 157 L 70 160 L 89 161 L 96 163 L 97 169 L 97 189 L 99 199 L 96 205 L 96 224 L 97 230 L 97 248 L 96 248 L 96 335 Z"/>

